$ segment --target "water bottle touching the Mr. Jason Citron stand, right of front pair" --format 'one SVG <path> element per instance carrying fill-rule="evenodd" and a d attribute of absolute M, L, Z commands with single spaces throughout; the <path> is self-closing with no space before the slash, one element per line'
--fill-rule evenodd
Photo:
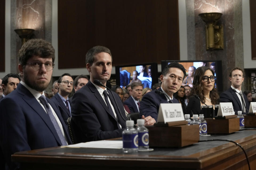
<path fill-rule="evenodd" d="M 139 150 L 145 150 L 149 148 L 149 130 L 144 126 L 144 123 L 144 119 L 137 119 Z"/>

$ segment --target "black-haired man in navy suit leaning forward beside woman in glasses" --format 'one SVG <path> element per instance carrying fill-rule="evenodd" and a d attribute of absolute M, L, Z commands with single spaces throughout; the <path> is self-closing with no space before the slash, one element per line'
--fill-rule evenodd
<path fill-rule="evenodd" d="M 158 110 L 161 103 L 179 103 L 173 94 L 179 90 L 186 75 L 186 69 L 178 62 L 167 65 L 160 76 L 161 87 L 145 94 L 140 104 L 140 117 L 151 116 L 157 121 Z"/>

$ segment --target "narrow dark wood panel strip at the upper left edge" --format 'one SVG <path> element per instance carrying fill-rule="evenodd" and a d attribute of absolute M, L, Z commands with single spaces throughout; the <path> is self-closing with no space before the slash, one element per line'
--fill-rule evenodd
<path fill-rule="evenodd" d="M 0 1 L 0 72 L 5 72 L 5 1 Z"/>

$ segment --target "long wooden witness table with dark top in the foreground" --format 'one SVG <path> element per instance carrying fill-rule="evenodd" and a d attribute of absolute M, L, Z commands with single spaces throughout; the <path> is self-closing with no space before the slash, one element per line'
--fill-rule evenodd
<path fill-rule="evenodd" d="M 256 169 L 256 130 L 200 137 L 200 140 L 209 139 L 239 143 L 249 157 L 251 169 Z M 22 169 L 248 169 L 241 148 L 226 141 L 154 148 L 151 152 L 135 154 L 123 154 L 122 149 L 53 147 L 17 152 L 12 160 L 20 162 Z"/>

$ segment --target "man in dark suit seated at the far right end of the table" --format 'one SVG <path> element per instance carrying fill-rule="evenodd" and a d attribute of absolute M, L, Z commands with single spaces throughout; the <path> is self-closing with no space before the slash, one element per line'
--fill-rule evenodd
<path fill-rule="evenodd" d="M 249 112 L 250 105 L 247 96 L 241 91 L 243 75 L 241 68 L 233 68 L 229 73 L 231 87 L 219 96 L 219 102 L 232 102 L 235 114 L 238 114 L 237 111 L 242 111 L 242 114 Z"/>

